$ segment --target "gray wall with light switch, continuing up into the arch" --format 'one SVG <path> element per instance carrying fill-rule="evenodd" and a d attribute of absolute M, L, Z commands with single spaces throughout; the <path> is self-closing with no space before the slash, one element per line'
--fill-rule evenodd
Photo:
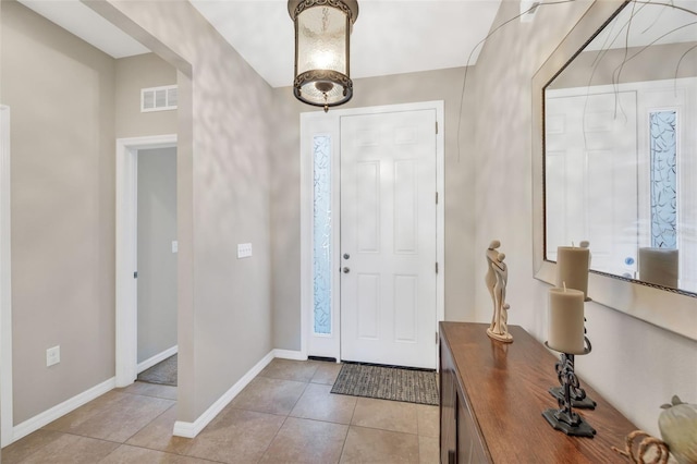
<path fill-rule="evenodd" d="M 178 418 L 194 422 L 273 347 L 271 88 L 188 2 L 90 7 L 180 71 Z"/>

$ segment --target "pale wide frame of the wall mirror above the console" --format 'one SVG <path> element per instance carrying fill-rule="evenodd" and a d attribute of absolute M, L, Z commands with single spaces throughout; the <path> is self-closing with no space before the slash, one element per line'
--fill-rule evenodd
<path fill-rule="evenodd" d="M 533 265 L 536 279 L 554 285 L 557 262 L 545 259 L 545 88 L 629 0 L 596 0 L 533 76 Z M 588 296 L 655 326 L 697 340 L 697 295 L 599 271 Z"/>

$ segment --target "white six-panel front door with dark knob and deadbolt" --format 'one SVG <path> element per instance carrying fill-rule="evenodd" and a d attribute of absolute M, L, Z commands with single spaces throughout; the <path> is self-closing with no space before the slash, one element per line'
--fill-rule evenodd
<path fill-rule="evenodd" d="M 436 111 L 341 118 L 341 358 L 435 368 Z"/>

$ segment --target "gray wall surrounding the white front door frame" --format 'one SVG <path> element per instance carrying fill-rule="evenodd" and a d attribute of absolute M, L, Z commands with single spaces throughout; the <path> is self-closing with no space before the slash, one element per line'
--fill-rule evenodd
<path fill-rule="evenodd" d="M 443 100 L 445 107 L 445 317 L 474 317 L 472 273 L 475 249 L 475 171 L 472 169 L 472 118 L 460 111 L 465 69 L 447 69 L 354 80 L 354 97 L 341 108 Z M 299 350 L 299 113 L 317 111 L 298 102 L 290 87 L 276 88 L 273 125 L 273 341 L 277 347 Z M 321 110 L 319 110 L 321 111 Z M 330 110 L 331 111 L 331 110 Z M 458 134 L 458 127 L 460 134 Z M 457 136 L 460 135 L 460 150 Z"/>

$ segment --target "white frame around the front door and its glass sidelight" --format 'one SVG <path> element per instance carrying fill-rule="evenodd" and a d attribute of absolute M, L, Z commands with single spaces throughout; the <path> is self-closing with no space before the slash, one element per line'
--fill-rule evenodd
<path fill-rule="evenodd" d="M 339 136 L 340 121 L 342 117 L 359 115 L 359 114 L 378 114 L 398 111 L 417 111 L 417 110 L 436 110 L 436 121 L 439 129 L 436 135 L 436 188 L 439 194 L 438 204 L 436 205 L 436 258 L 439 264 L 439 272 L 436 276 L 436 318 L 433 323 L 435 330 L 438 330 L 438 321 L 445 318 L 445 279 L 444 279 L 444 260 L 445 260 L 445 234 L 444 234 L 444 217 L 445 217 L 445 150 L 444 150 L 444 105 L 442 100 L 424 101 L 404 105 L 389 105 L 380 107 L 352 108 L 352 109 L 332 109 L 328 113 L 321 111 L 311 111 L 301 113 L 301 355 L 306 357 L 309 351 L 309 337 L 311 333 L 313 322 L 313 155 L 309 137 L 314 134 L 326 133 L 328 126 L 331 126 L 332 134 L 332 163 L 339 166 Z M 315 127 L 321 127 L 314 130 Z M 436 130 L 436 129 L 435 129 Z M 334 185 L 332 186 L 332 196 L 338 198 L 339 185 L 333 176 Z M 334 203 L 337 205 L 337 203 Z M 332 229 L 337 245 L 338 231 L 341 230 L 339 215 L 332 216 Z M 339 248 L 335 246 L 333 253 L 337 254 Z M 335 267 L 335 266 L 334 266 Z M 337 268 L 338 269 L 338 268 Z M 332 282 L 333 288 L 338 285 L 339 272 L 335 272 L 335 280 Z M 332 304 L 338 304 L 334 300 Z M 338 307 L 338 306 L 337 306 Z M 340 323 L 338 312 L 332 314 L 332 331 L 338 338 L 341 337 L 341 330 L 338 329 Z M 433 334 L 436 337 L 436 334 Z M 338 339 L 339 340 L 339 339 Z M 341 359 L 341 342 L 334 346 L 334 354 L 331 357 Z M 438 350 L 436 350 L 438 357 Z M 436 359 L 438 366 L 438 359 Z"/>

